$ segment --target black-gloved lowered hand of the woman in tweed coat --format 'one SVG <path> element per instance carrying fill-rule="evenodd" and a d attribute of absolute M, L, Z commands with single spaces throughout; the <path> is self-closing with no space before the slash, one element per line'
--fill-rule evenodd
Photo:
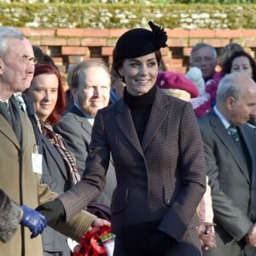
<path fill-rule="evenodd" d="M 177 241 L 165 232 L 156 230 L 143 242 L 142 253 L 147 256 L 165 255 L 176 243 Z"/>

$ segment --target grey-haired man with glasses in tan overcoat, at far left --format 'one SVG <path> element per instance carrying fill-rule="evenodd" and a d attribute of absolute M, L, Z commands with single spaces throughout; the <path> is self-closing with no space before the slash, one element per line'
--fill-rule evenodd
<path fill-rule="evenodd" d="M 42 155 L 38 154 L 32 124 L 14 96 L 30 86 L 35 63 L 32 45 L 22 32 L 0 26 L 0 189 L 18 206 L 18 211 L 10 207 L 7 210 L 6 200 L 0 200 L 1 255 L 43 256 L 42 237 L 38 235 L 46 219 L 34 208 L 38 202 L 52 201 L 57 196 L 48 185 L 40 184 Z M 64 226 L 49 223 L 76 241 L 90 225 L 101 224 L 105 223 L 88 212 L 79 212 Z M 8 243 L 2 242 L 10 238 Z"/>

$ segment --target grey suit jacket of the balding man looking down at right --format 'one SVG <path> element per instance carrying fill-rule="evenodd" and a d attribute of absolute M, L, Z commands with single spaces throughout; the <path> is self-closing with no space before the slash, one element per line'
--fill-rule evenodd
<path fill-rule="evenodd" d="M 255 132 L 249 125 L 238 127 L 247 154 L 247 165 L 213 110 L 201 118 L 199 124 L 205 143 L 218 243 L 216 249 L 205 252 L 205 255 L 241 255 L 245 246 L 243 236 L 256 221 Z M 245 251 L 247 256 L 256 255 L 256 248 L 247 246 Z"/>

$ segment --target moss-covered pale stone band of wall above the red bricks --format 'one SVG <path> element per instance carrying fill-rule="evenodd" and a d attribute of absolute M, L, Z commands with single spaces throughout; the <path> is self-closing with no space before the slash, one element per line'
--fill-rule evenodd
<path fill-rule="evenodd" d="M 63 0 L 66 3 L 59 3 L 59 0 L 49 1 L 55 3 L 0 2 L 1 25 L 131 28 L 148 26 L 148 20 L 154 20 L 155 23 L 171 29 L 256 28 L 256 4 L 220 4 L 222 0 L 218 3 L 217 0 L 202 0 L 201 2 L 207 2 L 204 4 L 196 3 L 198 0 L 180 0 L 188 1 L 189 4 L 174 3 L 176 0 L 171 0 L 173 3 L 170 0 L 151 3 L 134 1 L 136 3 L 133 4 L 87 3 L 91 1 L 86 0 Z M 193 4 L 191 1 L 194 1 Z M 210 1 L 212 4 L 209 4 Z"/>

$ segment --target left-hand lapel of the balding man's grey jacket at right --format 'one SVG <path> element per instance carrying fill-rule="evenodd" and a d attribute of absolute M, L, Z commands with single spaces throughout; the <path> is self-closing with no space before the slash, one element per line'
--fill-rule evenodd
<path fill-rule="evenodd" d="M 247 180 L 250 181 L 250 177 L 248 176 L 248 172 L 246 171 L 247 166 L 241 156 L 240 149 L 237 147 L 232 137 L 227 136 L 227 131 L 224 128 L 223 123 L 214 112 L 212 112 L 212 115 L 210 116 L 210 124 L 212 125 L 213 131 L 215 132 L 216 136 L 219 137 L 222 143 L 224 143 L 224 146 L 227 148 L 227 150 L 230 151 L 230 154 L 233 156 L 241 172 L 245 175 L 245 177 L 247 177 Z"/>

